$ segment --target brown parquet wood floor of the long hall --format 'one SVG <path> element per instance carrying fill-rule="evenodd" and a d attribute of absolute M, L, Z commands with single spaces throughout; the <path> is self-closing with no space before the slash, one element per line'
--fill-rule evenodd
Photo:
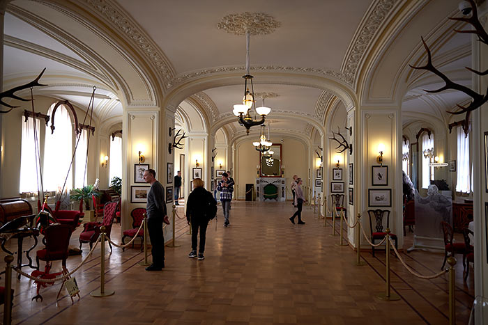
<path fill-rule="evenodd" d="M 183 207 L 178 207 L 183 216 Z M 81 299 L 72 305 L 66 292 L 57 304 L 59 285 L 43 289 L 44 301 L 31 301 L 31 281 L 14 280 L 13 324 L 447 324 L 447 276 L 422 280 L 411 276 L 392 258 L 392 287 L 400 301 L 381 301 L 385 291 L 385 254 L 362 252 L 365 267 L 353 264 L 349 246 L 335 246 L 329 226 L 305 208 L 305 225 L 293 225 L 290 203 L 234 201 L 231 226 L 224 228 L 219 207 L 218 223 L 207 230 L 203 261 L 187 257 L 190 235 L 185 220 L 176 220 L 178 248 L 166 248 L 166 268 L 144 271 L 139 244 L 135 249 L 107 246 L 106 290 L 114 296 L 94 298 L 100 287 L 100 250 L 75 274 Z M 77 230 L 71 243 L 77 246 Z M 120 241 L 120 226 L 112 239 Z M 405 247 L 411 245 L 408 234 Z M 138 241 L 137 241 L 138 243 Z M 7 247 L 16 246 L 16 242 Z M 27 241 L 24 248 L 29 245 Z M 68 259 L 73 269 L 88 253 Z M 31 254 L 34 255 L 34 254 Z M 443 253 L 403 253 L 421 274 L 440 270 Z M 4 253 L 0 256 L 3 269 Z M 150 257 L 151 258 L 151 257 Z M 54 271 L 60 269 L 55 264 Z M 28 270 L 28 268 L 24 268 Z M 457 265 L 457 321 L 466 324 L 473 303 L 473 269 L 468 282 Z M 3 276 L 1 283 L 3 283 Z M 3 312 L 2 312 L 3 314 Z"/>

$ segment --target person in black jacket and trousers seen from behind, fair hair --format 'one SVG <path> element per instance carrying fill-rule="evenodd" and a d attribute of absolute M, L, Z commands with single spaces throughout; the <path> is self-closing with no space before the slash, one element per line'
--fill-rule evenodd
<path fill-rule="evenodd" d="M 217 201 L 211 192 L 204 188 L 201 178 L 193 180 L 193 191 L 186 202 L 186 221 L 192 227 L 192 251 L 188 257 L 204 260 L 205 239 L 208 221 L 217 215 Z M 200 246 L 197 255 L 197 236 L 200 230 Z"/>

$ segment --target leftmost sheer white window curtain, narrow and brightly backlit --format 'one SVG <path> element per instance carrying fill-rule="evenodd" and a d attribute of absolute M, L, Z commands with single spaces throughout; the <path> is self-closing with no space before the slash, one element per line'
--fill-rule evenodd
<path fill-rule="evenodd" d="M 34 141 L 34 121 L 36 122 L 36 134 L 38 141 L 40 139 L 40 122 L 37 118 L 27 118 L 27 122 L 24 122 L 24 116 L 22 116 L 22 140 L 20 148 L 20 187 L 19 192 L 37 192 L 38 180 L 39 189 L 40 186 L 40 174 L 38 170 L 38 157 L 36 158 L 36 147 Z"/>

